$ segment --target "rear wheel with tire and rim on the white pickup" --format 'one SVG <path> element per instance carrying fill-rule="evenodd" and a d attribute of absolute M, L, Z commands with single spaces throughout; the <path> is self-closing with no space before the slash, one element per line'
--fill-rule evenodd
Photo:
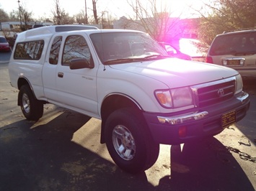
<path fill-rule="evenodd" d="M 19 105 L 27 120 L 37 121 L 43 116 L 43 102 L 35 98 L 30 85 L 22 85 L 20 88 Z"/>

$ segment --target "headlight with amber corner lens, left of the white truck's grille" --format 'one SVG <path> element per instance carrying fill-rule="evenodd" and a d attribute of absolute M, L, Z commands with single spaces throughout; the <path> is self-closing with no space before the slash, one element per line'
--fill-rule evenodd
<path fill-rule="evenodd" d="M 194 105 L 193 94 L 190 88 L 172 90 L 156 90 L 156 99 L 165 108 L 181 108 Z"/>

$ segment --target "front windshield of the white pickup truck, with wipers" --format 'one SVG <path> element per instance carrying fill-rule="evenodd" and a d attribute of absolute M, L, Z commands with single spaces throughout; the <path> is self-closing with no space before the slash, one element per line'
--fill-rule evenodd
<path fill-rule="evenodd" d="M 154 39 L 141 32 L 106 32 L 90 37 L 105 65 L 169 57 Z"/>

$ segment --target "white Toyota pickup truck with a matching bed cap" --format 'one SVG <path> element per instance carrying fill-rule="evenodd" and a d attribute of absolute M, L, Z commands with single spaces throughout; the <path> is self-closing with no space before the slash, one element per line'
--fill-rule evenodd
<path fill-rule="evenodd" d="M 144 32 L 51 26 L 18 35 L 9 61 L 28 120 L 53 103 L 100 118 L 101 143 L 127 172 L 149 169 L 159 144 L 219 134 L 250 107 L 228 67 L 169 57 Z"/>

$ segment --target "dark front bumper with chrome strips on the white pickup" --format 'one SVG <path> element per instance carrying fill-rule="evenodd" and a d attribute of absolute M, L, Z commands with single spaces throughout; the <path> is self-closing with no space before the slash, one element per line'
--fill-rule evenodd
<path fill-rule="evenodd" d="M 159 144 L 182 144 L 206 136 L 219 134 L 224 130 L 221 116 L 235 111 L 235 121 L 240 121 L 250 108 L 247 93 L 240 93 L 224 103 L 179 113 L 147 113 L 144 117 L 151 135 Z"/>

